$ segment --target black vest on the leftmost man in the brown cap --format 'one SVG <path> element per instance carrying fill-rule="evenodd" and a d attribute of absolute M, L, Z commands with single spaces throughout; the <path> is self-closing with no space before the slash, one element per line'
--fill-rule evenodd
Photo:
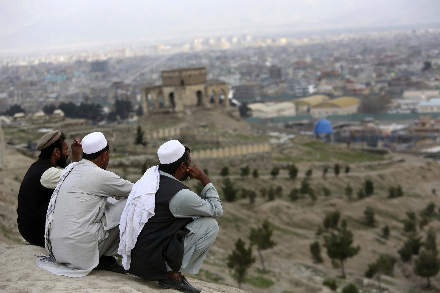
<path fill-rule="evenodd" d="M 32 245 L 44 247 L 46 213 L 53 189 L 40 183 L 46 170 L 55 167 L 47 159 L 38 159 L 30 165 L 18 191 L 18 231 Z"/>

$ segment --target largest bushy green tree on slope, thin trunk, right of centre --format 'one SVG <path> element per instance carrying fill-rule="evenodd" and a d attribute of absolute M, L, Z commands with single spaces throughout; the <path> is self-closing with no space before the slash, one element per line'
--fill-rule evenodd
<path fill-rule="evenodd" d="M 352 246 L 353 233 L 347 229 L 347 221 L 342 220 L 341 227 L 336 233 L 331 232 L 330 236 L 324 236 L 324 242 L 327 255 L 331 259 L 340 261 L 342 278 L 345 278 L 344 261 L 348 257 L 354 257 L 360 250 L 360 246 Z"/>

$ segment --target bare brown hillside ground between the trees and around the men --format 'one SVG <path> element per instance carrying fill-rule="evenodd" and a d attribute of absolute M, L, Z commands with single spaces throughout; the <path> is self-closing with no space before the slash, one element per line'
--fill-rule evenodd
<path fill-rule="evenodd" d="M 206 129 L 210 132 L 217 132 L 223 137 L 223 143 L 225 143 L 224 141 L 228 144 L 233 143 L 234 140 L 237 143 L 246 143 L 252 142 L 254 139 L 269 139 L 267 134 L 255 134 L 246 123 L 240 122 L 236 127 L 228 127 L 234 121 L 232 118 L 217 121 L 218 127 L 213 125 L 215 123 L 206 124 L 197 119 L 195 121 L 191 125 L 192 128 L 202 133 Z M 188 121 L 183 121 L 183 123 L 188 123 Z M 230 131 L 231 129 L 234 130 Z M 9 135 L 8 133 L 11 132 L 5 130 L 5 134 Z M 154 145 L 158 144 L 160 141 L 150 141 L 150 145 L 147 145 L 146 149 L 154 148 Z M 206 145 L 197 144 L 197 142 L 187 143 L 187 145 L 194 149 L 207 148 Z M 366 279 L 364 272 L 367 270 L 368 264 L 374 262 L 380 254 L 385 253 L 396 257 L 397 262 L 393 276 L 383 277 L 383 286 L 388 288 L 389 292 L 414 293 L 422 291 L 425 279 L 414 275 L 412 268 L 414 257 L 412 262 L 404 263 L 400 260 L 397 250 L 403 246 L 403 242 L 407 238 L 407 233 L 403 232 L 403 221 L 407 218 L 406 212 L 414 212 L 419 219 L 420 211 L 425 209 L 429 203 L 434 203 L 436 207 L 440 206 L 440 199 L 433 192 L 433 190 L 440 192 L 440 181 L 438 180 L 440 165 L 433 161 L 408 155 L 377 156 L 363 152 L 361 147 L 361 145 L 354 145 L 353 148 L 348 149 L 346 145 L 328 145 L 310 137 L 297 135 L 283 143 L 272 145 L 271 154 L 260 154 L 251 159 L 231 157 L 226 160 L 204 159 L 198 162 L 194 160 L 194 164 L 199 164 L 208 170 L 209 176 L 221 196 L 223 196 L 223 177 L 220 176 L 220 170 L 224 166 L 229 166 L 231 174 L 228 177 L 235 184 L 235 188 L 253 190 L 257 192 L 257 198 L 255 203 L 249 203 L 249 199 L 240 198 L 241 192 L 238 192 L 238 199 L 235 202 L 224 201 L 224 216 L 218 219 L 220 234 L 209 251 L 200 274 L 189 275 L 189 277 L 205 282 L 238 286 L 231 271 L 227 268 L 227 256 L 235 247 L 234 243 L 238 238 L 244 240 L 247 247 L 250 229 L 257 228 L 264 219 L 267 219 L 274 230 L 272 238 L 276 242 L 274 248 L 262 251 L 268 272 L 262 272 L 260 259 L 254 247 L 253 254 L 256 262 L 249 269 L 242 289 L 254 293 L 330 292 L 327 287 L 322 285 L 323 279 L 337 278 L 341 275 L 341 270 L 333 268 L 323 247 L 323 235 L 316 235 L 316 231 L 319 226 L 322 226 L 326 213 L 338 210 L 341 213 L 341 218 L 347 220 L 348 229 L 354 234 L 354 245 L 361 247 L 355 257 L 349 258 L 345 262 L 347 279 L 337 278 L 340 287 L 345 283 L 353 282 L 358 288 L 363 287 L 363 292 L 374 292 L 377 289 L 377 282 L 373 279 Z M 122 148 L 122 145 L 118 148 Z M 115 153 L 122 154 L 122 151 Z M 114 159 L 117 159 L 117 155 Z M 15 255 L 22 257 L 26 266 L 32 267 L 34 266 L 33 261 L 36 259 L 33 254 L 44 252 L 38 248 L 21 245 L 15 222 L 18 188 L 22 177 L 34 159 L 22 155 L 15 149 L 7 148 L 7 160 L 8 165 L 0 170 L 0 227 L 2 229 L 0 242 L 6 243 L 1 247 L 3 253 L 1 259 L 4 265 L 3 269 L 0 269 L 0 274 L 6 280 L 2 282 L 1 286 L 6 292 L 26 292 L 22 288 L 27 286 L 26 284 L 37 284 L 37 281 L 40 280 L 39 277 L 32 275 L 31 269 L 20 273 L 20 268 L 15 268 L 13 271 L 6 271 L 6 268 L 9 267 L 10 261 L 15 261 L 17 266 L 21 265 L 20 261 L 15 259 Z M 287 166 L 292 163 L 299 169 L 298 177 L 294 180 L 289 178 L 287 170 Z M 341 164 L 339 176 L 335 176 L 333 172 L 335 163 Z M 344 167 L 347 164 L 350 166 L 350 171 L 345 174 Z M 251 172 L 249 176 L 242 178 L 240 167 L 246 165 L 249 165 Z M 280 173 L 275 179 L 270 175 L 273 166 L 280 168 Z M 329 167 L 326 177 L 323 177 L 324 166 Z M 254 169 L 258 170 L 258 178 L 252 177 Z M 312 175 L 308 181 L 315 191 L 316 200 L 313 200 L 309 195 L 301 196 L 297 201 L 290 200 L 288 194 L 293 188 L 300 188 L 301 181 L 309 169 L 312 169 Z M 139 167 L 111 166 L 111 159 L 109 170 L 132 181 L 136 181 L 142 176 Z M 370 179 L 374 183 L 374 192 L 369 197 L 358 199 L 357 191 L 363 187 L 365 179 Z M 192 190 L 198 188 L 197 182 L 194 181 L 187 180 L 185 184 L 188 184 Z M 348 199 L 345 195 L 347 184 L 353 188 L 352 199 Z M 397 185 L 402 187 L 403 197 L 389 199 L 388 188 Z M 268 197 L 263 197 L 260 193 L 260 189 L 263 187 L 276 188 L 277 186 L 281 186 L 282 195 L 275 200 L 268 201 Z M 323 195 L 324 187 L 330 190 L 331 195 Z M 363 212 L 367 206 L 375 212 L 376 225 L 373 228 L 368 227 L 364 219 Z M 389 226 L 391 231 L 389 239 L 381 237 L 381 228 L 385 224 Z M 417 225 L 417 231 L 425 237 L 425 233 L 430 227 L 438 231 L 440 221 L 434 219 L 423 229 Z M 309 246 L 315 241 L 320 242 L 323 250 L 324 261 L 321 264 L 315 264 L 310 254 Z M 437 240 L 438 243 L 439 240 Z M 6 259 L 4 259 L 5 256 L 7 256 Z M 36 266 L 33 269 L 38 270 Z M 121 285 L 117 288 L 105 287 L 101 283 L 99 286 L 96 285 L 98 277 L 113 280 L 113 275 L 110 277 L 109 274 L 111 273 L 94 272 L 87 277 L 90 279 L 88 282 L 90 282 L 89 286 L 93 292 L 138 292 L 136 290 L 145 292 L 143 287 L 130 287 L 131 285 L 125 283 L 128 281 L 123 280 L 130 278 L 131 281 L 132 279 L 128 276 L 115 277 L 121 281 L 121 284 L 124 284 L 124 286 Z M 62 286 L 66 286 L 66 288 L 73 286 L 73 283 L 63 285 L 66 278 L 57 276 L 48 278 L 41 281 L 53 281 L 56 284 L 53 290 L 58 290 L 57 292 L 68 291 Z M 45 284 L 44 282 L 42 284 Z M 228 291 L 232 289 L 224 289 L 225 286 L 214 284 L 211 286 L 198 281 L 194 282 L 204 288 L 204 292 L 235 292 Z M 140 283 L 146 284 L 152 289 L 157 287 L 155 284 L 150 285 L 149 282 L 136 280 L 137 285 Z M 431 283 L 434 287 L 439 286 L 436 278 L 431 278 Z M 43 285 L 39 288 L 43 288 Z M 88 287 L 73 286 L 69 288 L 78 292 L 88 292 Z M 50 290 L 48 289 L 47 292 Z M 35 291 L 29 289 L 28 291 L 37 292 L 37 289 Z M 44 290 L 39 292 L 44 292 Z"/>

